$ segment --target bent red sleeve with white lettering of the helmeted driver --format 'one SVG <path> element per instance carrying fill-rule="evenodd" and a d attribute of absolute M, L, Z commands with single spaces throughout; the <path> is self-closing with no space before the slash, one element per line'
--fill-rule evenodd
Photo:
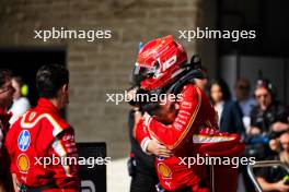
<path fill-rule="evenodd" d="M 164 125 L 153 118 L 147 121 L 150 135 L 170 149 L 176 148 L 193 134 L 194 123 L 201 105 L 201 92 L 198 87 L 186 85 L 181 94 L 180 111 L 172 124 Z"/>

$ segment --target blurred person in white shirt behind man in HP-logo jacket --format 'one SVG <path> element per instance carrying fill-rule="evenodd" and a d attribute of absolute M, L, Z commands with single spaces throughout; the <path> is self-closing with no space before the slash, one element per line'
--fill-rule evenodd
<path fill-rule="evenodd" d="M 13 76 L 12 86 L 14 87 L 15 93 L 13 94 L 13 105 L 9 110 L 12 112 L 10 124 L 13 124 L 20 116 L 31 108 L 30 100 L 27 99 L 26 95 L 24 95 L 27 93 L 23 93 L 22 91 L 23 86 L 27 86 L 24 84 L 22 77 Z"/>

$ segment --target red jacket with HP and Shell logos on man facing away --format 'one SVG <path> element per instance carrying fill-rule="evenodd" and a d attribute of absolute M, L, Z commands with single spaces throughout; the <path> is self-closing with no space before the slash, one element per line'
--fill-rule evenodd
<path fill-rule="evenodd" d="M 63 158 L 78 157 L 74 132 L 48 99 L 41 98 L 36 108 L 11 127 L 5 145 L 11 157 L 11 172 L 20 183 L 28 188 L 56 185 L 45 190 L 47 192 L 78 191 L 78 166 Z M 59 163 L 60 157 L 63 160 Z"/>

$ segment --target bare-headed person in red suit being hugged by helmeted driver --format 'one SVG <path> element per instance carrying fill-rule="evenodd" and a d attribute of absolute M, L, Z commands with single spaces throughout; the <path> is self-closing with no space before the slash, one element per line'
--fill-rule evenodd
<path fill-rule="evenodd" d="M 163 124 L 171 124 L 177 116 L 180 106 L 171 100 L 167 100 L 165 105 L 160 105 L 158 108 L 149 111 L 152 117 Z M 160 143 L 153 136 L 149 135 L 148 129 L 143 123 L 143 119 L 139 121 L 136 128 L 136 135 L 139 142 L 146 136 L 150 136 L 146 152 L 152 153 L 158 156 L 155 158 L 155 168 L 161 185 L 167 191 L 182 191 L 182 192 L 207 192 L 209 191 L 209 175 L 207 175 L 206 166 L 194 165 L 193 168 L 188 168 L 187 165 L 182 164 L 180 157 L 190 157 L 197 154 L 209 154 L 212 156 L 234 156 L 240 152 L 240 147 L 235 147 L 234 144 L 239 142 L 238 136 L 220 133 L 213 128 L 201 128 L 197 134 L 194 134 L 193 141 L 187 141 L 182 147 L 174 152 L 174 155 L 167 156 L 165 149 L 159 149 L 159 154 L 155 154 L 151 148 L 155 143 Z M 217 140 L 216 140 L 217 139 Z M 204 140 L 204 142 L 201 141 Z M 216 141 L 213 141 L 216 140 Z M 221 145 L 220 143 L 223 142 Z M 218 146 L 217 146 L 218 145 Z M 228 146 L 226 146 L 228 145 Z M 242 148 L 241 148 L 242 149 Z M 193 153 L 195 152 L 195 153 Z M 164 155 L 163 155 L 164 154 Z M 165 158 L 163 158 L 165 157 Z M 226 173 L 226 172 L 224 172 Z M 161 187 L 159 185 L 161 189 Z M 222 188 L 223 191 L 231 191 Z"/>

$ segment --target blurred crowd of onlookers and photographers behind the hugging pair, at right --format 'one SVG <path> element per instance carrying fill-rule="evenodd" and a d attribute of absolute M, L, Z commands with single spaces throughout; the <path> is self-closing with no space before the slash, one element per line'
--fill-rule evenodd
<path fill-rule="evenodd" d="M 247 79 L 239 79 L 234 97 L 223 80 L 212 80 L 207 88 L 219 116 L 220 129 L 243 136 L 246 144 L 244 156 L 289 164 L 289 110 L 277 99 L 276 86 L 269 80 L 257 80 L 252 86 Z M 246 169 L 241 172 L 246 191 L 254 191 Z M 288 172 L 281 168 L 259 168 L 255 175 L 264 191 L 289 190 Z"/>

